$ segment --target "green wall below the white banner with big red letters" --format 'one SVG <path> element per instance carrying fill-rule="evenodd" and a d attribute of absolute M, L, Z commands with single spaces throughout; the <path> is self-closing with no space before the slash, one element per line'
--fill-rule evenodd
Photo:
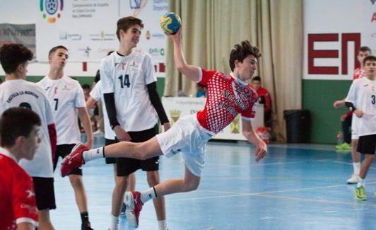
<path fill-rule="evenodd" d="M 335 100 L 346 97 L 352 81 L 303 80 L 303 109 L 310 110 L 310 142 L 317 144 L 336 143 L 336 134 L 341 130 L 339 117 L 346 108 L 335 109 Z"/>

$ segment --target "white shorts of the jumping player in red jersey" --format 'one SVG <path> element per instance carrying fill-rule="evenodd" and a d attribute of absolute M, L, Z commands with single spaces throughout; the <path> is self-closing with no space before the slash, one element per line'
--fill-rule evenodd
<path fill-rule="evenodd" d="M 180 118 L 170 130 L 156 137 L 167 158 L 182 152 L 185 166 L 192 174 L 201 177 L 205 165 L 206 143 L 213 137 L 213 133 L 201 127 L 196 114 Z"/>

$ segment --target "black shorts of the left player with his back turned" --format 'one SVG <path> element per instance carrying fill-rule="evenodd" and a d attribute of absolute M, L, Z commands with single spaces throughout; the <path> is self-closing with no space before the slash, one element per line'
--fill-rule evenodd
<path fill-rule="evenodd" d="M 56 209 L 54 178 L 33 177 L 38 210 Z"/>

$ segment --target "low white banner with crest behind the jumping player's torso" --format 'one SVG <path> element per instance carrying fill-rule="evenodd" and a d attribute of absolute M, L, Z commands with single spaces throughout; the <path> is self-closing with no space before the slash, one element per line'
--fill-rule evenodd
<path fill-rule="evenodd" d="M 189 98 L 189 97 L 163 97 L 163 107 L 168 115 L 171 125 L 174 125 L 180 117 L 197 113 L 204 109 L 206 98 Z M 257 106 L 256 117 L 252 121 L 252 127 L 257 130 L 258 127 L 264 126 L 264 105 Z M 216 134 L 213 139 L 228 139 L 246 141 L 242 134 L 242 119 L 240 115 L 224 130 Z"/>

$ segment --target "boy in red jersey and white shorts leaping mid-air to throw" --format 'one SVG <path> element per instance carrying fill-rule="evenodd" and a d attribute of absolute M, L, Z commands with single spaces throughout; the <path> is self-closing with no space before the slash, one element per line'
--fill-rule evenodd
<path fill-rule="evenodd" d="M 142 205 L 160 195 L 196 190 L 204 168 L 205 146 L 213 134 L 221 132 L 240 113 L 242 132 L 247 140 L 256 145 L 256 161 L 264 158 L 266 144 L 255 134 L 251 120 L 255 115 L 257 93 L 245 81 L 252 78 L 261 54 L 259 49 L 242 41 L 230 53 L 230 67 L 233 73 L 225 75 L 208 71 L 185 62 L 182 52 L 181 29 L 169 35 L 174 46 L 175 66 L 192 81 L 206 86 L 207 99 L 204 110 L 177 120 L 168 132 L 158 134 L 143 143 L 120 142 L 104 148 L 88 150 L 83 144 L 61 163 L 64 176 L 72 167 L 103 156 L 127 156 L 148 159 L 153 156 L 173 156 L 182 152 L 185 163 L 184 178 L 165 180 L 143 192 L 127 192 L 126 216 L 132 226 L 139 225 Z M 88 151 L 87 151 L 88 150 Z M 96 153 L 98 151 L 98 154 Z M 81 154 L 78 154 L 81 153 Z"/>

